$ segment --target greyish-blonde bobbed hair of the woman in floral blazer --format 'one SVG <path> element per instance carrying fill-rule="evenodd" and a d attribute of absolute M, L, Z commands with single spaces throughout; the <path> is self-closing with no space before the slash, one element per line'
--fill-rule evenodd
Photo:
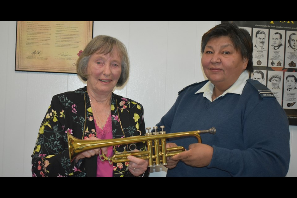
<path fill-rule="evenodd" d="M 129 77 L 130 61 L 126 46 L 118 39 L 110 36 L 99 35 L 94 37 L 84 51 L 80 54 L 76 62 L 76 72 L 82 80 L 88 80 L 87 67 L 90 56 L 99 52 L 101 54 L 108 54 L 113 49 L 118 49 L 119 56 L 122 58 L 122 73 L 116 86 L 122 86 Z"/>

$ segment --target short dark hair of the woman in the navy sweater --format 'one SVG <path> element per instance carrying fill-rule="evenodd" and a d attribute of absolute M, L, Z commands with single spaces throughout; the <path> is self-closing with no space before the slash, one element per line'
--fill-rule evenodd
<path fill-rule="evenodd" d="M 253 68 L 253 41 L 247 30 L 239 28 L 234 23 L 222 23 L 211 28 L 204 33 L 201 41 L 201 54 L 204 53 L 205 46 L 210 39 L 227 36 L 233 42 L 236 51 L 240 51 L 242 58 L 248 59 L 246 70 L 250 73 Z"/>

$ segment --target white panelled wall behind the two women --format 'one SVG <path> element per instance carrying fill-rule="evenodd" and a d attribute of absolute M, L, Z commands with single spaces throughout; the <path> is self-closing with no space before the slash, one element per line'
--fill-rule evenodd
<path fill-rule="evenodd" d="M 95 21 L 94 36 L 116 37 L 127 46 L 131 73 L 115 93 L 144 106 L 147 127 L 153 127 L 174 103 L 177 92 L 204 80 L 200 64 L 202 34 L 216 21 Z M 0 22 L 0 176 L 31 176 L 31 154 L 51 97 L 85 85 L 75 74 L 14 71 L 15 21 Z M 297 176 L 297 127 L 290 126 L 291 164 Z M 293 131 L 293 132 L 292 132 Z M 295 135 L 295 136 L 293 136 Z M 295 139 L 294 139 L 295 137 Z M 151 170 L 165 176 L 166 168 Z"/>

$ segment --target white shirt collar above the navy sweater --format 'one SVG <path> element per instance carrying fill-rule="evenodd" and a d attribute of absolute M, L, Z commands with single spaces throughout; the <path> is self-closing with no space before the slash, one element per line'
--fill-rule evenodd
<path fill-rule="evenodd" d="M 229 87 L 219 97 L 225 96 L 226 93 L 235 93 L 235 94 L 241 95 L 243 88 L 244 88 L 245 84 L 247 83 L 247 80 L 248 80 L 248 71 L 244 70 L 240 74 L 239 78 L 235 81 L 235 83 L 232 84 L 231 87 Z M 212 101 L 211 97 L 213 95 L 213 88 L 214 88 L 214 84 L 212 84 L 210 81 L 208 81 L 196 93 L 203 93 L 203 97 L 206 97 L 209 101 Z M 217 100 L 219 97 L 217 97 L 213 101 Z"/>

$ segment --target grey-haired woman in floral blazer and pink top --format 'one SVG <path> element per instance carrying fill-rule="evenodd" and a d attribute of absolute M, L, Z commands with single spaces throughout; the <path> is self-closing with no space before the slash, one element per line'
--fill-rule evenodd
<path fill-rule="evenodd" d="M 83 140 L 139 136 L 145 131 L 143 107 L 129 98 L 112 93 L 129 76 L 125 45 L 113 37 L 97 36 L 77 60 L 78 75 L 87 86 L 53 97 L 41 123 L 32 155 L 33 176 L 147 176 L 148 162 L 128 156 L 129 162 L 110 164 L 106 156 L 124 151 L 129 145 L 84 151 L 69 159 L 67 132 Z M 145 149 L 145 144 L 136 144 Z"/>

